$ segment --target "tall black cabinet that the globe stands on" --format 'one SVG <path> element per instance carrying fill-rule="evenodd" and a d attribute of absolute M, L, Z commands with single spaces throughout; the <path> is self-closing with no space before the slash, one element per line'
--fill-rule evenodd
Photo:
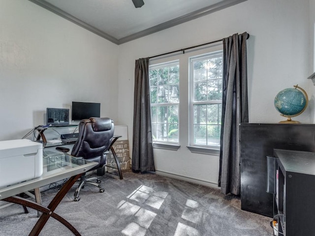
<path fill-rule="evenodd" d="M 315 124 L 242 123 L 241 208 L 273 217 L 267 189 L 267 158 L 274 148 L 315 152 Z"/>

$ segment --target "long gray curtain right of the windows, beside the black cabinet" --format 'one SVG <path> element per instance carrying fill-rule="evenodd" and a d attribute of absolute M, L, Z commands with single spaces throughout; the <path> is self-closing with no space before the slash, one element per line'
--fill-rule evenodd
<path fill-rule="evenodd" d="M 240 195 L 239 124 L 249 122 L 247 32 L 223 38 L 223 96 L 219 186 L 221 193 Z"/>

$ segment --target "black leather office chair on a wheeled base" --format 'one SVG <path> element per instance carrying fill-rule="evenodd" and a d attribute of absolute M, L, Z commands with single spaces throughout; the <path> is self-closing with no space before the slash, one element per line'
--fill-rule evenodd
<path fill-rule="evenodd" d="M 114 122 L 110 118 L 89 118 L 83 119 L 79 124 L 79 137 L 73 146 L 71 155 L 83 157 L 84 159 L 98 163 L 92 170 L 102 167 L 106 163 L 106 155 L 109 151 L 114 136 Z M 91 180 L 95 180 L 91 181 Z M 104 189 L 99 185 L 100 179 L 97 177 L 86 178 L 82 175 L 78 188 L 74 193 L 74 201 L 79 201 L 80 190 L 85 184 L 93 184 L 99 188 L 99 192 Z"/>

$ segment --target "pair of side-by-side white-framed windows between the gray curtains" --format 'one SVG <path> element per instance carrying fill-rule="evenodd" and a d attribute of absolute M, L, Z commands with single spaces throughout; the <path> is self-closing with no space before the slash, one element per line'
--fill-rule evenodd
<path fill-rule="evenodd" d="M 150 60 L 154 148 L 186 146 L 193 153 L 219 154 L 222 59 L 222 44 L 218 43 Z"/>

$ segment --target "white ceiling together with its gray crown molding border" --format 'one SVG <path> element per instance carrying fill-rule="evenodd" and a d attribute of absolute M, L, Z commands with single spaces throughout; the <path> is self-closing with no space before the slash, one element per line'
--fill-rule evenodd
<path fill-rule="evenodd" d="M 30 0 L 107 40 L 122 44 L 246 0 Z"/>

